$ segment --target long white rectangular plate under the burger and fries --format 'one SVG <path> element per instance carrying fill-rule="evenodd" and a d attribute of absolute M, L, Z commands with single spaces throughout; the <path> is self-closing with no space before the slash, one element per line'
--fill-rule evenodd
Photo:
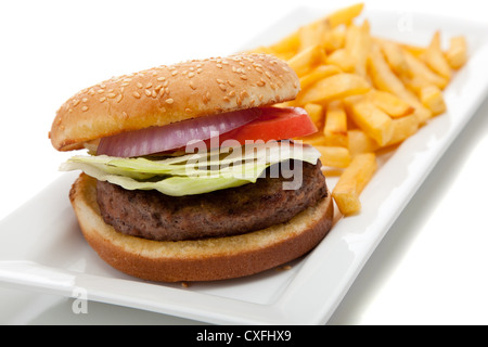
<path fill-rule="evenodd" d="M 298 9 L 245 48 L 271 43 L 325 13 Z M 401 17 L 401 16 L 406 17 Z M 373 12 L 373 35 L 426 44 L 465 35 L 470 62 L 445 92 L 448 113 L 433 119 L 381 166 L 361 195 L 363 208 L 339 219 L 325 240 L 290 270 L 216 283 L 158 284 L 125 275 L 85 242 L 67 194 L 78 174 L 46 188 L 0 223 L 0 283 L 78 296 L 222 324 L 322 324 L 328 321 L 391 223 L 488 93 L 488 27 L 420 13 Z M 329 180 L 332 188 L 333 179 Z"/>

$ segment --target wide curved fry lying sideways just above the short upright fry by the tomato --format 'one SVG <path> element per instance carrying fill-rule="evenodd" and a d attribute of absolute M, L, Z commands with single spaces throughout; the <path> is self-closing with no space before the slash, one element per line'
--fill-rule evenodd
<path fill-rule="evenodd" d="M 364 78 L 354 74 L 337 74 L 319 80 L 304 90 L 297 100 L 301 104 L 330 102 L 356 94 L 363 94 L 371 89 Z"/>

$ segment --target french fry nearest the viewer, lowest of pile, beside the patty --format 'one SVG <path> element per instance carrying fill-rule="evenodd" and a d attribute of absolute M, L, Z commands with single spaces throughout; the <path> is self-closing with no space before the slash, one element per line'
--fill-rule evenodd
<path fill-rule="evenodd" d="M 376 168 L 377 164 L 374 153 L 364 153 L 355 156 L 343 175 L 341 175 L 337 184 L 332 191 L 332 196 L 344 216 L 361 210 L 359 196 L 373 177 Z"/>

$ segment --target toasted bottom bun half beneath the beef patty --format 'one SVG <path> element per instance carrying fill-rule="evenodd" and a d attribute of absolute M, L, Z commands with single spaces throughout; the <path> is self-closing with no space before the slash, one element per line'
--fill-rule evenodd
<path fill-rule="evenodd" d="M 156 282 L 216 281 L 258 273 L 316 247 L 332 227 L 331 194 L 291 221 L 255 232 L 205 240 L 152 241 L 104 222 L 97 180 L 81 174 L 69 192 L 85 239 L 113 268 Z"/>

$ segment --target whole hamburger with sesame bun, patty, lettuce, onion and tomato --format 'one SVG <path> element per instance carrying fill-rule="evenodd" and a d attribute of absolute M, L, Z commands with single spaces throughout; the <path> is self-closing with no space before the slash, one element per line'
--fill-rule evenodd
<path fill-rule="evenodd" d="M 162 65 L 86 88 L 57 111 L 69 200 L 113 268 L 157 282 L 215 281 L 296 259 L 326 235 L 333 204 L 317 131 L 284 107 L 299 80 L 283 61 L 236 54 Z"/>

